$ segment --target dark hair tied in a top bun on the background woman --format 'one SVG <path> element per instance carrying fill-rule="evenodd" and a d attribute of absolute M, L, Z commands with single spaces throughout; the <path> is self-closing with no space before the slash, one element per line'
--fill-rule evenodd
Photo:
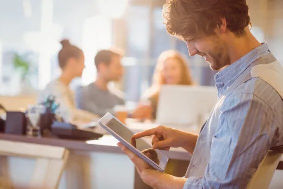
<path fill-rule="evenodd" d="M 64 68 L 66 66 L 66 62 L 70 58 L 80 58 L 82 56 L 83 51 L 71 45 L 69 40 L 62 40 L 61 42 L 62 49 L 58 53 L 58 61 L 60 68 Z"/>

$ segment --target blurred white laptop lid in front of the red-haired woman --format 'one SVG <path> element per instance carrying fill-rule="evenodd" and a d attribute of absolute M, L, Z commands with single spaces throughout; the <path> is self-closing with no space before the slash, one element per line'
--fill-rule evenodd
<path fill-rule="evenodd" d="M 159 94 L 156 123 L 202 125 L 217 97 L 216 87 L 164 85 Z"/>

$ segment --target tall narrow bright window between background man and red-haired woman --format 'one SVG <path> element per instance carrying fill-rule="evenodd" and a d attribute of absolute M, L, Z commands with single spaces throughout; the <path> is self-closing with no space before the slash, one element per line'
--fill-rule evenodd
<path fill-rule="evenodd" d="M 149 64 L 149 11 L 145 6 L 131 6 L 124 17 L 128 36 L 126 57 L 130 58 L 125 59 L 124 91 L 130 101 L 138 101 L 140 94 L 148 87 L 146 71 Z"/>

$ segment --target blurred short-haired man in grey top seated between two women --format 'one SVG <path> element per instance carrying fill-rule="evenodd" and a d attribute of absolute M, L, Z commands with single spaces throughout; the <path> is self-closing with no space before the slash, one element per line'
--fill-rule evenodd
<path fill-rule="evenodd" d="M 94 114 L 103 116 L 112 112 L 115 105 L 123 105 L 119 94 L 108 90 L 108 83 L 119 81 L 123 75 L 121 55 L 112 50 L 99 51 L 94 59 L 97 79 L 94 83 L 77 90 L 77 106 Z"/>

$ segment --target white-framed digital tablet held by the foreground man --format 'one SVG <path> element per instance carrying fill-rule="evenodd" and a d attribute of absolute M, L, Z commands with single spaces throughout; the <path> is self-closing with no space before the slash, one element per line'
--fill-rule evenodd
<path fill-rule="evenodd" d="M 133 139 L 132 136 L 135 133 L 132 132 L 124 124 L 122 124 L 112 114 L 105 114 L 99 120 L 99 124 L 109 134 L 114 136 L 124 146 L 126 146 L 129 150 L 131 150 L 153 168 L 160 172 L 163 172 L 165 170 L 166 164 L 168 162 L 168 157 L 162 154 L 162 152 L 160 152 L 159 150 L 153 149 L 152 145 L 147 143 L 142 138 Z"/>

